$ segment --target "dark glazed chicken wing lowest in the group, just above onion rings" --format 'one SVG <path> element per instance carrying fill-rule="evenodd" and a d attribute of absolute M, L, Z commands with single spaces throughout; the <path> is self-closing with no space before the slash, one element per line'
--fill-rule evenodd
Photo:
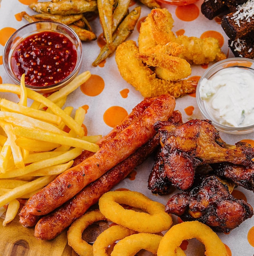
<path fill-rule="evenodd" d="M 229 232 L 253 216 L 250 204 L 230 195 L 227 185 L 216 176 L 197 178 L 191 189 L 168 200 L 165 211 L 183 221 L 203 222 L 216 232 Z"/>

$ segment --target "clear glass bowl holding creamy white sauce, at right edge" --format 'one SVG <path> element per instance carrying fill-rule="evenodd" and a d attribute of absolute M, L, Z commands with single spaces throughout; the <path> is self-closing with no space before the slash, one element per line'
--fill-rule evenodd
<path fill-rule="evenodd" d="M 220 131 L 254 131 L 254 60 L 227 58 L 199 79 L 196 99 L 201 115 Z"/>

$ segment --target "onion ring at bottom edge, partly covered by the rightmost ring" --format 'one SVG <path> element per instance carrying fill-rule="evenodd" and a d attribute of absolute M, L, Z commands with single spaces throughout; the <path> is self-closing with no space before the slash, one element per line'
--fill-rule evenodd
<path fill-rule="evenodd" d="M 120 240 L 111 252 L 111 256 L 135 256 L 141 249 L 157 254 L 162 236 L 149 233 L 138 233 Z"/>

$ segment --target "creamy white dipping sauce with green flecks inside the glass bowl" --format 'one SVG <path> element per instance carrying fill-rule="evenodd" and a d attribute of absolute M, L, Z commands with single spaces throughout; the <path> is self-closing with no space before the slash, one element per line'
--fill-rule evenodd
<path fill-rule="evenodd" d="M 199 93 L 218 123 L 232 127 L 254 124 L 254 73 L 250 70 L 219 70 L 209 80 L 201 81 Z"/>

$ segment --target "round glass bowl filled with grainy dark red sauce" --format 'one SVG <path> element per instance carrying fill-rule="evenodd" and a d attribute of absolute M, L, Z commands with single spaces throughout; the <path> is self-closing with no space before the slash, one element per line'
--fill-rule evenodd
<path fill-rule="evenodd" d="M 27 88 L 55 92 L 80 71 L 82 43 L 68 26 L 52 21 L 29 23 L 15 31 L 4 46 L 3 64 L 11 79 Z"/>

